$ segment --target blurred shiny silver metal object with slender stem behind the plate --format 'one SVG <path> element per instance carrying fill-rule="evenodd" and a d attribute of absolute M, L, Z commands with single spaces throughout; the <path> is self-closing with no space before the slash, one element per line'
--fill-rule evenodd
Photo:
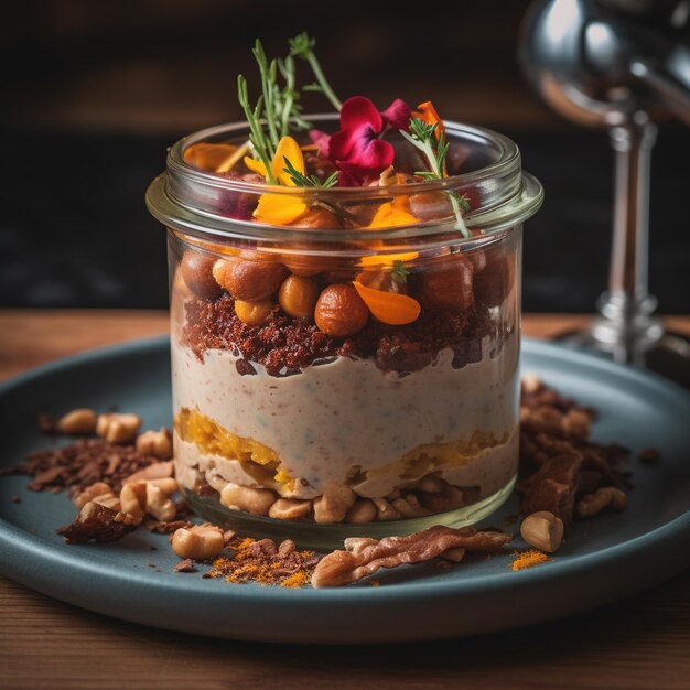
<path fill-rule="evenodd" d="M 664 332 L 647 289 L 653 120 L 690 125 L 690 0 L 541 0 L 525 18 L 519 60 L 562 116 L 606 128 L 615 151 L 608 290 L 576 341 L 642 363 L 666 348 L 690 363 L 690 345 Z"/>

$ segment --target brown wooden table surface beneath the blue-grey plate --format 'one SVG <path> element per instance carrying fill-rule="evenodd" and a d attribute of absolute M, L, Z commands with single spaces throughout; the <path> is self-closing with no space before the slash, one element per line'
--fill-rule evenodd
<path fill-rule="evenodd" d="M 528 315 L 525 333 L 550 337 L 584 320 Z M 690 333 L 690 317 L 669 325 Z M 162 312 L 0 310 L 0 378 L 165 331 Z M 690 571 L 554 623 L 379 647 L 249 644 L 158 630 L 82 611 L 3 578 L 0 611 L 0 688 L 12 690 L 690 688 Z"/>

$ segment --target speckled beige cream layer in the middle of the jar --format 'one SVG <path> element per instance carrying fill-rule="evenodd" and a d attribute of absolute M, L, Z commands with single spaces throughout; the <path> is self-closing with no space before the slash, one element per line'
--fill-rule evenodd
<path fill-rule="evenodd" d="M 256 364 L 256 375 L 241 376 L 235 367 L 238 357 L 228 351 L 207 351 L 201 362 L 173 338 L 174 411 L 198 409 L 231 433 L 273 449 L 297 479 L 294 490 L 281 490 L 285 496 L 320 496 L 327 484 L 346 482 L 353 467 L 376 471 L 419 445 L 468 440 L 476 431 L 510 440 L 481 456 L 484 470 L 476 464 L 471 471 L 475 463 L 470 463 L 449 467 L 442 476 L 456 485 L 479 485 L 489 465 L 497 471 L 500 465 L 497 474 L 508 473 L 505 484 L 517 466 L 518 338 L 513 334 L 495 357 L 490 348 L 486 338 L 482 360 L 460 369 L 452 367 L 453 353 L 445 349 L 435 364 L 402 377 L 381 371 L 371 360 L 339 357 L 276 378 Z M 190 466 L 194 451 L 179 442 L 176 452 Z M 204 459 L 196 451 L 194 464 L 208 460 L 216 472 L 224 459 Z M 237 462 L 223 470 L 246 475 Z M 395 486 L 393 476 L 379 479 L 376 495 Z M 487 488 L 496 481 L 487 481 Z M 360 490 L 375 495 L 364 486 Z"/>

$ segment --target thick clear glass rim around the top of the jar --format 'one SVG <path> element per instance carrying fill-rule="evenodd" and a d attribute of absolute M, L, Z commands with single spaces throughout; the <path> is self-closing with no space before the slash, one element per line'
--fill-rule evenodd
<path fill-rule="evenodd" d="M 314 123 L 336 122 L 337 114 L 308 115 Z M 241 220 L 214 213 L 213 201 L 222 193 L 238 194 L 279 194 L 285 197 L 299 195 L 305 201 L 370 201 L 390 200 L 390 197 L 410 196 L 429 192 L 461 192 L 482 185 L 485 190 L 483 203 L 478 208 L 464 214 L 468 227 L 477 229 L 483 236 L 493 235 L 510 226 L 522 223 L 533 215 L 543 200 L 543 190 L 539 182 L 521 170 L 518 147 L 508 137 L 490 129 L 444 120 L 449 141 L 464 140 L 490 149 L 493 160 L 476 170 L 450 175 L 443 180 L 424 180 L 409 184 L 387 186 L 334 186 L 324 188 L 289 187 L 268 185 L 224 177 L 206 172 L 184 160 L 184 152 L 193 144 L 222 137 L 239 137 L 248 131 L 248 123 L 233 122 L 218 125 L 176 141 L 168 152 L 166 172 L 159 175 L 149 186 L 147 204 L 150 212 L 162 223 L 179 231 L 197 237 L 216 239 L 250 239 L 271 242 L 319 241 L 337 242 L 381 240 L 409 241 L 439 235 L 448 219 L 433 219 L 416 224 L 387 228 L 299 228 Z M 448 227 L 443 228 L 448 230 Z M 477 237 L 464 238 L 457 233 L 453 245 L 476 241 Z M 448 238 L 444 244 L 448 242 Z"/>

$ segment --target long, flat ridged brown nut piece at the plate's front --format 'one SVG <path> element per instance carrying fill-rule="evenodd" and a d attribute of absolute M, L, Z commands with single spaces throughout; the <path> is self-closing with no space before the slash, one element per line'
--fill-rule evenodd
<path fill-rule="evenodd" d="M 436 525 L 409 537 L 386 537 L 380 541 L 356 539 L 345 541 L 346 551 L 333 551 L 316 565 L 312 586 L 333 587 L 356 582 L 380 568 L 428 561 L 449 549 L 490 551 L 508 543 L 509 535 L 478 532 L 473 527 L 451 529 Z"/>

